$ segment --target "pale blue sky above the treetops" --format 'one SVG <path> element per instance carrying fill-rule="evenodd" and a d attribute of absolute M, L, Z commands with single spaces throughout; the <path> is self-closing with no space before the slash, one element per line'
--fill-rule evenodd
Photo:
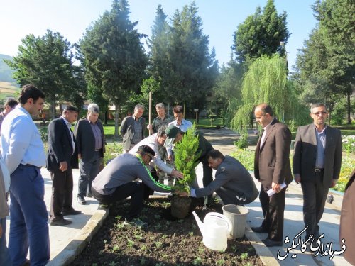
<path fill-rule="evenodd" d="M 186 0 L 128 0 L 131 21 L 138 21 L 139 33 L 151 35 L 155 11 L 161 4 L 172 18 L 178 9 L 191 4 Z M 202 18 L 204 35 L 209 36 L 209 48 L 216 50 L 219 65 L 229 62 L 233 34 L 247 16 L 261 9 L 267 0 L 195 0 L 197 15 Z M 311 5 L 315 0 L 275 0 L 278 14 L 286 11 L 288 31 L 291 33 L 285 48 L 288 64 L 294 65 L 297 49 L 315 28 L 317 21 Z M 88 26 L 104 11 L 111 9 L 111 0 L 3 0 L 0 15 L 0 54 L 16 56 L 21 39 L 28 34 L 45 35 L 47 29 L 59 32 L 70 43 L 77 43 Z M 145 40 L 142 40 L 146 43 Z"/>

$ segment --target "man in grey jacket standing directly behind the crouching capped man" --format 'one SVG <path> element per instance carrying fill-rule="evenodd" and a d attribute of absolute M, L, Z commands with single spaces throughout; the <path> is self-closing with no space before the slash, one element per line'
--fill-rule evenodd
<path fill-rule="evenodd" d="M 134 107 L 133 116 L 126 116 L 121 123 L 119 132 L 123 138 L 122 146 L 124 153 L 128 153 L 134 145 L 143 140 L 146 119 L 142 117 L 144 107 L 137 104 Z"/>

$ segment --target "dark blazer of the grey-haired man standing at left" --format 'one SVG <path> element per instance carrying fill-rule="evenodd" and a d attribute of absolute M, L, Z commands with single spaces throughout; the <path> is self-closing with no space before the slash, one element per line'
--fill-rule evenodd
<path fill-rule="evenodd" d="M 97 120 L 97 126 L 101 131 L 102 136 L 102 149 L 100 156 L 104 157 L 106 139 L 104 135 L 104 127 L 101 121 Z M 95 152 L 95 136 L 92 132 L 92 127 L 86 117 L 80 118 L 74 126 L 74 135 L 77 139 L 77 153 L 79 153 L 84 160 L 90 160 L 94 157 Z"/>

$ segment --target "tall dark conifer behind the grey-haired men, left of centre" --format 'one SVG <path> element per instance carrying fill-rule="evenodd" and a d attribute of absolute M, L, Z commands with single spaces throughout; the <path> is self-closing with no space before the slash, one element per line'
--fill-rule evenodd
<path fill-rule="evenodd" d="M 87 80 L 116 106 L 115 136 L 118 136 L 119 108 L 130 94 L 139 92 L 147 57 L 135 29 L 138 22 L 129 20 L 126 0 L 114 0 L 106 11 L 87 29 L 80 50 L 87 69 Z"/>

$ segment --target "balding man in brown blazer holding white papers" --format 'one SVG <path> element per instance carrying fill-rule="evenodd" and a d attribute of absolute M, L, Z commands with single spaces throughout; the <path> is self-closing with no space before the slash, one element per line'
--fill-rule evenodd
<path fill-rule="evenodd" d="M 268 104 L 259 104 L 254 111 L 256 121 L 263 126 L 263 134 L 255 151 L 254 174 L 261 182 L 259 199 L 264 220 L 260 227 L 251 229 L 257 233 L 268 233 L 263 243 L 268 246 L 283 245 L 283 211 L 285 210 L 285 190 L 281 184 L 290 184 L 291 132 L 283 123 L 273 117 L 273 109 Z M 275 194 L 268 196 L 273 189 Z"/>

